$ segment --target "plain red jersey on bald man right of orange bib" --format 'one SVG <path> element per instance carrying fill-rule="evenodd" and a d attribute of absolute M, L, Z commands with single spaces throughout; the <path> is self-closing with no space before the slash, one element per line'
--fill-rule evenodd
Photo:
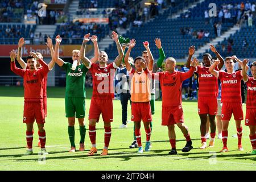
<path fill-rule="evenodd" d="M 159 77 L 162 89 L 162 107 L 180 106 L 182 104 L 181 86 L 184 80 L 192 77 L 194 67 L 191 67 L 188 72 L 159 72 L 152 73 L 155 79 Z"/>

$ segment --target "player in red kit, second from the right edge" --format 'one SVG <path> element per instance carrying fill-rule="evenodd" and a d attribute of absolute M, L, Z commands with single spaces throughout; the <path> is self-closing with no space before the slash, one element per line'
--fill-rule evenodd
<path fill-rule="evenodd" d="M 225 67 L 228 72 L 216 71 L 216 66 L 220 64 L 219 60 L 216 60 L 209 68 L 209 71 L 221 81 L 221 120 L 222 120 L 222 142 L 223 148 L 221 152 L 228 152 L 227 140 L 228 140 L 228 126 L 232 113 L 237 126 L 238 137 L 238 150 L 243 151 L 242 148 L 242 125 L 243 119 L 242 110 L 242 98 L 241 98 L 241 80 L 242 71 L 234 72 L 234 60 L 238 61 L 242 65 L 242 61 L 237 59 L 236 56 L 226 57 Z"/>

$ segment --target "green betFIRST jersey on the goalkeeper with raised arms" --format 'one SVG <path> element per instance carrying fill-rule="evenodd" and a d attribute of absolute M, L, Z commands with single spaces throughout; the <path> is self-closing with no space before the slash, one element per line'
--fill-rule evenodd
<path fill-rule="evenodd" d="M 66 91 L 65 97 L 83 97 L 85 98 L 85 77 L 88 68 L 80 64 L 73 71 L 72 64 L 64 62 L 62 68 L 66 71 Z"/>

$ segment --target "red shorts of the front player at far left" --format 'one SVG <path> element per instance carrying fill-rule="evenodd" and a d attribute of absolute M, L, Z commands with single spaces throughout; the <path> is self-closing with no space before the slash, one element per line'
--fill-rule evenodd
<path fill-rule="evenodd" d="M 23 123 L 45 123 L 43 102 L 24 102 Z"/>

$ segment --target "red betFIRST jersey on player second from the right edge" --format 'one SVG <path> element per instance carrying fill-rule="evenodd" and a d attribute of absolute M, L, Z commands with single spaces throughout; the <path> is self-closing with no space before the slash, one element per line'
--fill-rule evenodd
<path fill-rule="evenodd" d="M 241 71 L 227 73 L 218 72 L 221 81 L 221 102 L 242 102 L 241 97 Z"/>

